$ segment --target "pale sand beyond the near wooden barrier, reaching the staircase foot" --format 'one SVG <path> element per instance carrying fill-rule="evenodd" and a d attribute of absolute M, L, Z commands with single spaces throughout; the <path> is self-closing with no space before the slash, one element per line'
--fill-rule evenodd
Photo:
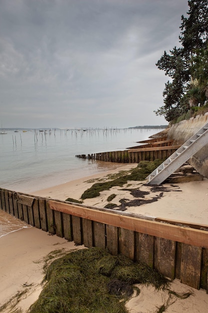
<path fill-rule="evenodd" d="M 109 174 L 116 174 L 120 170 L 130 170 L 136 166 L 135 163 L 121 165 L 111 171 L 36 190 L 31 194 L 64 201 L 68 197 L 81 200 L 82 193 L 95 182 L 105 181 L 109 179 Z M 122 187 L 114 186 L 109 190 L 101 191 L 97 197 L 84 199 L 82 204 L 103 208 L 109 203 L 108 196 L 116 194 L 112 202 L 119 206 L 123 198 L 129 201 L 135 199 L 131 194 L 131 189 L 136 188 L 139 188 L 145 195 L 142 194 L 142 197 L 138 198 L 138 205 L 127 205 L 126 212 L 208 226 L 208 178 L 201 181 L 164 183 L 155 189 L 151 185 L 146 185 L 146 181 L 128 181 Z"/>

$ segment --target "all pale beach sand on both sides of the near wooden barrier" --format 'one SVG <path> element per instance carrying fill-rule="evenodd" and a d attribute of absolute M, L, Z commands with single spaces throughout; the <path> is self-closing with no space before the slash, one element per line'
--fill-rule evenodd
<path fill-rule="evenodd" d="M 77 179 L 51 188 L 32 192 L 34 195 L 50 197 L 53 199 L 65 200 L 67 197 L 80 199 L 81 194 L 94 182 L 109 179 L 108 174 L 120 170 L 129 170 L 136 164 L 118 166 L 117 169 L 96 174 L 90 177 Z M 107 178 L 106 178 L 107 176 Z M 177 184 L 164 184 L 163 189 L 152 191 L 145 181 L 128 181 L 123 187 L 113 187 L 110 190 L 102 191 L 100 196 L 92 199 L 85 199 L 84 204 L 97 207 L 104 207 L 107 197 L 115 193 L 114 203 L 121 204 L 120 199 L 132 200 L 135 198 L 129 190 L 140 188 L 145 191 L 143 200 L 157 198 L 152 203 L 145 203 L 138 206 L 126 206 L 126 211 L 145 216 L 154 216 L 166 219 L 188 221 L 208 225 L 208 179 Z M 163 191 L 162 191 L 163 190 Z M 127 201 L 128 202 L 128 201 Z M 142 202 L 141 202 L 142 203 Z M 49 235 L 34 227 L 22 228 L 0 237 L 0 304 L 9 300 L 19 290 L 24 290 L 29 285 L 28 292 L 18 303 L 22 312 L 37 299 L 40 291 L 40 282 L 43 278 L 43 258 L 56 249 L 71 250 L 83 248 L 75 246 L 74 242 L 68 242 L 56 235 Z M 131 313 L 152 313 L 157 312 L 162 304 L 168 304 L 166 312 L 207 312 L 208 294 L 206 290 L 196 290 L 182 284 L 175 279 L 170 288 L 176 292 L 193 292 L 187 299 L 169 295 L 166 291 L 156 291 L 153 287 L 140 286 L 141 293 L 132 297 L 127 303 Z M 2 310 L 9 312 L 9 309 Z"/>

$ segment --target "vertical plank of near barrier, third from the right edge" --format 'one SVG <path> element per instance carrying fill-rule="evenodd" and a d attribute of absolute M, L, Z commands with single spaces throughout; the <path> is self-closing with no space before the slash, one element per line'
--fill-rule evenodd
<path fill-rule="evenodd" d="M 175 278 L 176 242 L 155 237 L 155 268 L 164 276 Z"/>

